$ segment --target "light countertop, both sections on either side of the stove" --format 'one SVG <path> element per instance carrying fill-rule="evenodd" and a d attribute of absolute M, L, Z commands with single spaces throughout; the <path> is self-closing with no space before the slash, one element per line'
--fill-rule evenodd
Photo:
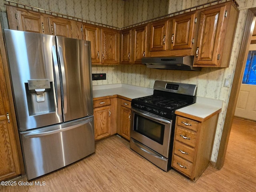
<path fill-rule="evenodd" d="M 153 89 L 132 86 L 127 84 L 110 84 L 92 86 L 93 98 L 120 95 L 126 98 L 134 99 L 153 94 Z M 175 111 L 175 114 L 193 118 L 203 122 L 216 113 L 219 113 L 222 108 L 222 100 L 210 98 L 196 97 L 196 103 L 180 108 Z"/>

